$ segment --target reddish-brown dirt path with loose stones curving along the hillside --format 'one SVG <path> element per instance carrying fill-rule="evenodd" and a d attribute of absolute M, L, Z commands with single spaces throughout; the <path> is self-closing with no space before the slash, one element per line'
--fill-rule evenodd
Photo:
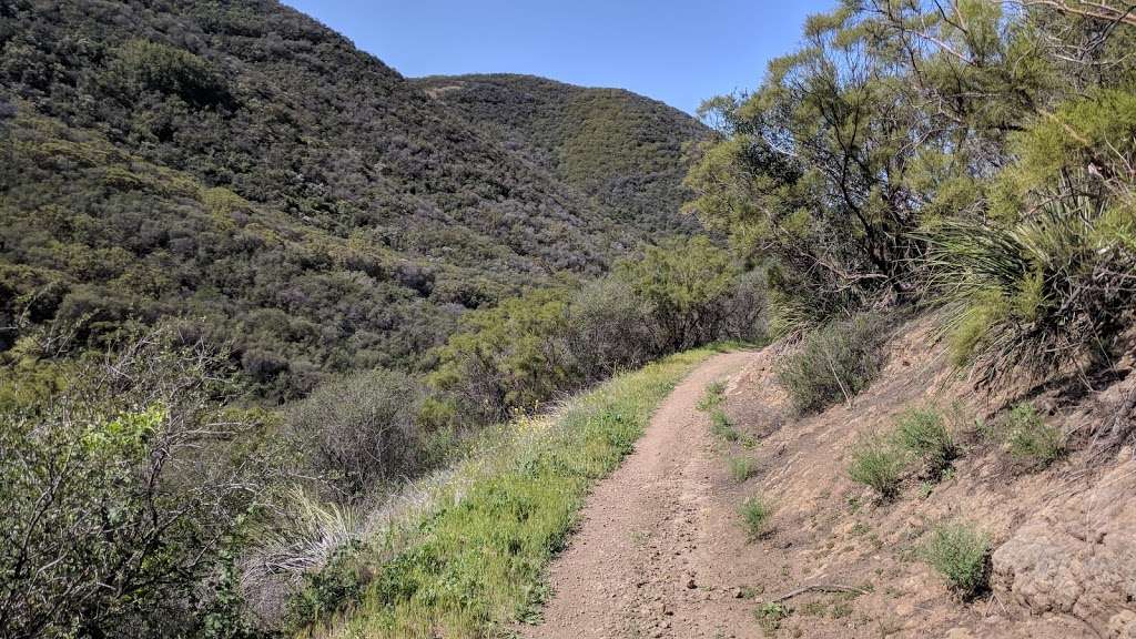
<path fill-rule="evenodd" d="M 737 590 L 740 573 L 759 570 L 755 554 L 696 408 L 707 384 L 729 380 L 755 355 L 715 356 L 663 401 L 635 453 L 588 498 L 580 530 L 552 565 L 545 621 L 524 634 L 761 636 Z"/>

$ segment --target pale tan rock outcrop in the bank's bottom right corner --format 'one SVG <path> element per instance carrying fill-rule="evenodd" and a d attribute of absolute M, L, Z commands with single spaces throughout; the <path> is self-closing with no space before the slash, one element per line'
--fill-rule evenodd
<path fill-rule="evenodd" d="M 1136 639 L 1136 460 L 1035 515 L 993 556 L 995 591 L 1037 614 L 1068 614 L 1102 637 Z"/>

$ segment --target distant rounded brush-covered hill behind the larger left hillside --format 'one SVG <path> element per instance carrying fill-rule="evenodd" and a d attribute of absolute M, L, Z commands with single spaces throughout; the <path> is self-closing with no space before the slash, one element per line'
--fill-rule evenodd
<path fill-rule="evenodd" d="M 684 199 L 683 144 L 708 131 L 683 111 L 621 89 L 588 89 L 531 75 L 412 82 L 632 224 L 653 231 L 696 224 L 678 213 Z"/>

